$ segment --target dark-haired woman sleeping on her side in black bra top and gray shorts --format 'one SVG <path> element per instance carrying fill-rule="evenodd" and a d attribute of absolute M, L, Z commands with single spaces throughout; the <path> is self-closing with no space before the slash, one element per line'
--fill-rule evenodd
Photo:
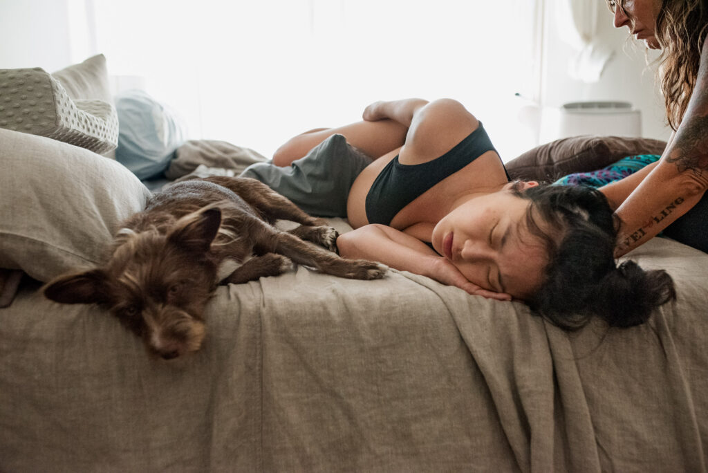
<path fill-rule="evenodd" d="M 363 118 L 298 135 L 273 156 L 277 166 L 256 164 L 242 176 L 310 213 L 348 217 L 355 230 L 339 236 L 342 256 L 524 300 L 566 329 L 592 314 L 641 324 L 674 297 L 665 272 L 617 268 L 615 220 L 602 193 L 509 182 L 481 122 L 457 101 L 377 102 Z M 337 201 L 346 215 L 316 207 Z"/>

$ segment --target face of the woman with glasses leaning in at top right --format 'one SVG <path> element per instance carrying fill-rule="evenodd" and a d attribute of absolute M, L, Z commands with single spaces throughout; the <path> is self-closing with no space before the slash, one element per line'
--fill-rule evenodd
<path fill-rule="evenodd" d="M 615 13 L 615 28 L 627 26 L 629 34 L 644 40 L 647 47 L 659 48 L 656 40 L 656 17 L 661 11 L 661 0 L 606 0 Z"/>

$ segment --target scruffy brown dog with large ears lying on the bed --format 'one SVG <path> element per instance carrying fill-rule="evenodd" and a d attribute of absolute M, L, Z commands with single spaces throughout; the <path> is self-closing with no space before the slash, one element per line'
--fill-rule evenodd
<path fill-rule="evenodd" d="M 282 232 L 276 220 L 300 226 Z M 385 266 L 303 241 L 334 250 L 336 238 L 324 220 L 255 179 L 183 181 L 156 193 L 124 223 L 108 263 L 59 276 L 44 293 L 64 304 L 101 304 L 150 352 L 176 358 L 200 348 L 205 305 L 219 283 L 278 275 L 292 268 L 291 260 L 343 278 L 382 278 Z"/>

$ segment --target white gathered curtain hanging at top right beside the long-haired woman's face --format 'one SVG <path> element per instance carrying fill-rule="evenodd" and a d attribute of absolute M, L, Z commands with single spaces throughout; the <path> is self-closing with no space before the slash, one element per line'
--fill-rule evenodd
<path fill-rule="evenodd" d="M 600 0 L 555 0 L 556 24 L 561 38 L 576 50 L 568 64 L 573 79 L 597 82 L 610 61 L 614 50 L 598 34 L 598 18 L 607 16 L 605 3 Z"/>

